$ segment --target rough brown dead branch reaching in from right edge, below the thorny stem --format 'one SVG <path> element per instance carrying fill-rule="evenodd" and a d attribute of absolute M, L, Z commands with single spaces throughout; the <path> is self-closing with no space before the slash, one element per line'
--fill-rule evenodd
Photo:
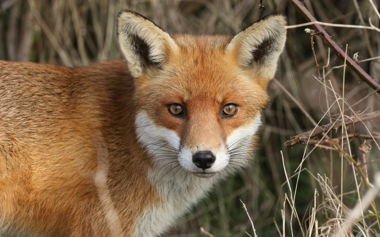
<path fill-rule="evenodd" d="M 344 119 L 345 125 L 353 124 L 355 122 L 359 121 L 367 121 L 375 118 L 380 118 L 380 110 L 374 111 L 371 113 L 367 113 L 364 115 L 355 115 L 351 117 L 346 117 Z M 314 130 L 309 130 L 307 132 L 301 133 L 299 135 L 296 135 L 294 137 L 290 137 L 288 141 L 286 141 L 284 144 L 285 146 L 293 146 L 294 144 L 301 143 L 306 144 L 310 137 L 313 137 L 315 135 L 318 135 L 320 133 L 326 132 L 330 129 L 338 129 L 342 127 L 342 121 L 338 122 L 331 122 L 329 124 L 322 125 L 320 127 L 317 127 Z"/>

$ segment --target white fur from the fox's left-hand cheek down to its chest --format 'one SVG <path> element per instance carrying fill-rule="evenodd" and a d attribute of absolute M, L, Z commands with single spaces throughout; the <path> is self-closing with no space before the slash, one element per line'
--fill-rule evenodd
<path fill-rule="evenodd" d="M 138 141 L 152 163 L 147 172 L 148 180 L 160 197 L 160 201 L 145 210 L 139 219 L 135 236 L 147 236 L 147 233 L 155 236 L 168 229 L 225 175 L 194 176 L 177 160 L 179 137 L 173 131 L 154 126 L 144 112 L 137 114 L 135 124 Z M 169 143 L 163 141 L 162 136 L 169 138 Z"/>

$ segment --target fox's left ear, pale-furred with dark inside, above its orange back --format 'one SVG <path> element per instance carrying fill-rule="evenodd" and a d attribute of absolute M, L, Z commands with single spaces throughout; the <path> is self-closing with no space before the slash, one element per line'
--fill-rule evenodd
<path fill-rule="evenodd" d="M 135 78 L 150 66 L 160 67 L 169 51 L 177 47 L 168 33 L 146 17 L 128 10 L 117 14 L 117 38 Z"/>

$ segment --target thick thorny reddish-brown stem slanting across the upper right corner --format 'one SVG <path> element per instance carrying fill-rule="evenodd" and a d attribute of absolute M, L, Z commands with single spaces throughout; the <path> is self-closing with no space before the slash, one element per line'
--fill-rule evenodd
<path fill-rule="evenodd" d="M 312 14 L 306 9 L 303 2 L 299 0 L 288 0 L 302 15 L 310 22 L 317 21 Z M 341 59 L 347 58 L 347 65 L 360 77 L 361 80 L 366 82 L 371 88 L 378 89 L 380 84 L 377 83 L 373 77 L 367 74 L 352 58 L 346 56 L 345 52 L 338 46 L 338 44 L 332 39 L 331 36 L 326 32 L 326 30 L 319 24 L 313 24 L 313 29 L 330 49 Z M 378 92 L 380 94 L 380 92 Z"/>

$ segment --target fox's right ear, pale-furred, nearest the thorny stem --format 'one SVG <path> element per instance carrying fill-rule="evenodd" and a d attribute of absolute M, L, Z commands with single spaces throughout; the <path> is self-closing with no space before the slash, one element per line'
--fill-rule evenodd
<path fill-rule="evenodd" d="M 259 78 L 269 82 L 285 46 L 285 25 L 286 18 L 281 14 L 266 16 L 237 33 L 227 52 L 233 54 L 240 66 L 253 69 Z"/>

